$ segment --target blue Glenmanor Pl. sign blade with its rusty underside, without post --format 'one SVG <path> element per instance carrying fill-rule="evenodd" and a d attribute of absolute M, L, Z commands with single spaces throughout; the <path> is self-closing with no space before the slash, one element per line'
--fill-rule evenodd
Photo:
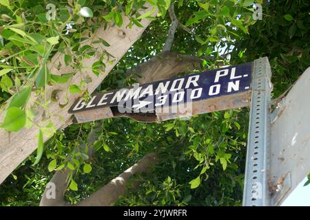
<path fill-rule="evenodd" d="M 127 116 L 144 122 L 249 106 L 253 63 L 213 69 L 76 100 L 74 122 Z"/>

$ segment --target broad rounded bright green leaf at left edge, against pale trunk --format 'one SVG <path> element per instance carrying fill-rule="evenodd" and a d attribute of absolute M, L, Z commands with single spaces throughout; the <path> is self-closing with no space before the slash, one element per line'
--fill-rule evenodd
<path fill-rule="evenodd" d="M 25 111 L 17 107 L 10 107 L 6 111 L 6 116 L 0 124 L 0 127 L 6 129 L 6 131 L 17 132 L 25 126 L 25 120 Z"/>

